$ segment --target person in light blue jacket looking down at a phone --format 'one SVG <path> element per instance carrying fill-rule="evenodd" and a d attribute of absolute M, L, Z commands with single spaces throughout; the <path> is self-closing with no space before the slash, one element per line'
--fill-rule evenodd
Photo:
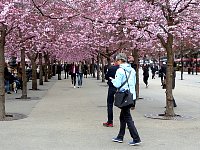
<path fill-rule="evenodd" d="M 119 90 L 121 92 L 130 90 L 130 92 L 133 94 L 133 99 L 135 102 L 135 99 L 136 99 L 136 91 L 135 91 L 136 72 L 131 67 L 131 65 L 127 63 L 127 57 L 124 53 L 119 53 L 115 59 L 116 59 L 117 64 L 119 65 L 119 69 L 117 69 L 117 71 L 116 71 L 115 79 L 110 78 L 112 80 L 111 82 L 113 83 L 113 85 L 116 88 L 119 88 L 121 86 L 121 84 L 126 81 L 127 76 L 129 76 L 129 74 L 131 73 L 127 83 L 125 83 L 125 85 L 122 86 Z M 131 107 L 135 107 L 135 104 L 121 108 L 120 130 L 119 130 L 117 137 L 112 139 L 113 142 L 118 142 L 118 143 L 123 142 L 126 124 L 127 124 L 130 135 L 132 137 L 132 141 L 129 142 L 129 145 L 134 146 L 134 145 L 139 145 L 141 143 L 139 134 L 137 132 L 137 129 L 134 125 L 134 121 L 133 121 L 131 113 L 130 113 Z"/>

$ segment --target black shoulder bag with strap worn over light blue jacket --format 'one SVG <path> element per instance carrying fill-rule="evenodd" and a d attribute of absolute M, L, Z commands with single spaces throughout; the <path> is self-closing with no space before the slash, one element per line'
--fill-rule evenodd
<path fill-rule="evenodd" d="M 125 75 L 126 75 L 126 71 L 125 71 Z M 130 92 L 129 84 L 128 84 L 129 90 L 126 90 L 124 92 L 120 91 L 120 88 L 122 86 L 124 86 L 126 84 L 126 82 L 128 83 L 128 79 L 129 79 L 130 75 L 131 75 L 131 72 L 129 73 L 128 78 L 127 78 L 127 75 L 126 75 L 126 81 L 124 81 L 124 83 L 119 88 L 117 88 L 117 92 L 115 93 L 114 105 L 117 106 L 118 108 L 121 108 L 121 109 L 123 107 L 134 105 L 133 94 Z"/>

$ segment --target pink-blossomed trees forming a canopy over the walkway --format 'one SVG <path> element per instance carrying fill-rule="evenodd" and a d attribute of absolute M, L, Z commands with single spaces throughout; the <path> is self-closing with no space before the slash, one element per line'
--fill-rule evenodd
<path fill-rule="evenodd" d="M 174 51 L 182 35 L 195 35 L 191 44 L 198 43 L 198 12 L 197 0 L 4 0 L 0 3 L 1 52 L 6 48 L 6 53 L 15 51 L 23 59 L 26 53 L 33 66 L 41 53 L 67 62 L 102 56 L 110 63 L 113 54 L 125 52 L 134 54 L 138 63 L 139 55 L 154 53 L 160 43 L 168 57 L 165 115 L 175 116 Z M 1 118 L 5 116 L 3 88 Z"/>

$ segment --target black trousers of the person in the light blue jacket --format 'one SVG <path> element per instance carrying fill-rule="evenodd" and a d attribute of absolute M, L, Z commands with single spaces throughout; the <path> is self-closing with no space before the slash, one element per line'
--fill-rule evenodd
<path fill-rule="evenodd" d="M 124 138 L 126 124 L 127 124 L 130 135 L 133 138 L 133 140 L 136 141 L 136 142 L 140 141 L 140 137 L 139 137 L 137 129 L 134 125 L 134 121 L 132 119 L 129 106 L 121 109 L 119 119 L 120 119 L 120 130 L 119 130 L 119 134 L 118 134 L 117 137 L 120 138 L 120 139 Z"/>

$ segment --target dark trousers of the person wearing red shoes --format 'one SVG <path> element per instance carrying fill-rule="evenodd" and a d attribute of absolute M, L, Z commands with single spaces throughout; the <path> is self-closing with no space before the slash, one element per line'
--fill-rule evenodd
<path fill-rule="evenodd" d="M 108 123 L 113 123 L 113 103 L 114 103 L 114 94 L 117 89 L 115 87 L 108 88 L 107 95 L 107 112 L 108 112 Z"/>

